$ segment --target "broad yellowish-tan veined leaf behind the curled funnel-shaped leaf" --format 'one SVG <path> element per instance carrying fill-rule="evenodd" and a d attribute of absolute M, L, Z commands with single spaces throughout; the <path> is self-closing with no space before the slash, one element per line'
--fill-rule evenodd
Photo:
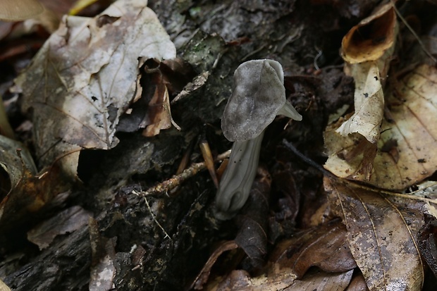
<path fill-rule="evenodd" d="M 393 85 L 386 98 L 386 117 L 373 161 L 371 185 L 402 190 L 424 180 L 437 170 L 433 154 L 437 140 L 437 69 L 422 65 Z M 360 172 L 362 156 L 351 156 L 359 140 L 339 143 L 337 125 L 328 127 L 325 144 L 329 159 L 325 168 L 340 178 L 366 181 Z"/>

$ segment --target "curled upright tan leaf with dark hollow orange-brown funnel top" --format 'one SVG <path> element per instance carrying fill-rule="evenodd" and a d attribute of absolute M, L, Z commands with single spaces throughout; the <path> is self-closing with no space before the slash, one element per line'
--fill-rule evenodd
<path fill-rule="evenodd" d="M 395 51 L 397 32 L 396 14 L 390 3 L 381 6 L 343 37 L 345 73 L 355 80 L 355 113 L 337 125 L 336 142 L 326 142 L 326 147 L 332 151 L 331 147 L 344 149 L 352 141 L 361 144 L 344 159 L 357 158 L 359 168 L 356 172 L 366 181 L 371 179 L 373 171 L 384 112 L 383 85 Z M 328 160 L 328 163 L 331 161 Z"/>

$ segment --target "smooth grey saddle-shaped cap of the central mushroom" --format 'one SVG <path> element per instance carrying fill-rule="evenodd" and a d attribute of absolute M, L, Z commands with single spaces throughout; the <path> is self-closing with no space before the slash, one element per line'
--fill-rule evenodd
<path fill-rule="evenodd" d="M 273 60 L 242 63 L 234 73 L 233 93 L 226 104 L 221 129 L 231 142 L 257 137 L 285 104 L 283 69 Z"/>

